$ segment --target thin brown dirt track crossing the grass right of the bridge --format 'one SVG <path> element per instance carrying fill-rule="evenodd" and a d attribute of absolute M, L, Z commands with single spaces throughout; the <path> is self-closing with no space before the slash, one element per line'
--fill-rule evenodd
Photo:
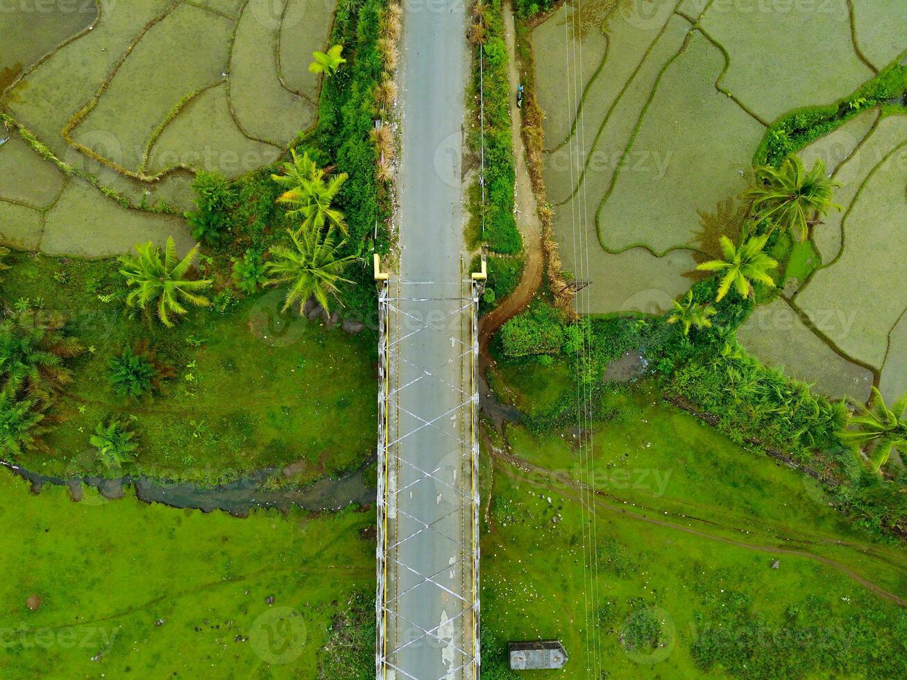
<path fill-rule="evenodd" d="M 580 487 L 580 484 L 578 482 L 572 481 L 569 479 L 565 479 L 562 475 L 559 475 L 556 472 L 546 470 L 545 468 L 541 468 L 538 465 L 533 465 L 531 462 L 525 461 L 522 458 L 519 458 L 518 456 L 513 455 L 512 453 L 500 452 L 500 451 L 493 452 L 493 457 L 495 459 L 497 459 L 498 461 L 500 461 L 502 466 L 504 464 L 507 464 L 509 467 L 515 467 L 522 471 L 533 471 L 533 472 L 545 475 L 553 481 L 557 481 L 561 485 L 571 489 L 571 491 L 576 492 L 575 494 L 564 493 L 565 496 L 568 496 L 569 498 L 571 498 L 571 500 L 574 500 L 576 502 L 580 502 L 580 503 L 583 502 L 583 496 L 588 492 L 588 490 L 584 491 Z M 510 477 L 515 477 L 514 473 L 511 470 L 509 470 L 507 467 L 502 467 L 502 471 L 504 472 L 504 474 L 507 474 Z M 532 486 L 536 486 L 541 489 L 550 489 L 550 487 L 548 487 L 544 484 L 541 484 L 536 481 L 532 481 L 531 479 L 525 478 L 523 476 L 520 476 L 520 479 L 522 481 L 526 481 L 527 483 L 531 484 Z M 563 491 L 561 491 L 561 493 L 563 493 Z M 612 505 L 607 500 L 600 498 L 600 493 L 598 491 L 596 491 L 595 494 L 596 494 L 595 505 L 600 510 L 607 510 L 609 512 L 614 512 L 614 513 L 617 513 L 620 515 L 624 515 L 631 520 L 638 520 L 638 521 L 646 522 L 648 524 L 654 524 L 658 527 L 664 527 L 665 529 L 674 529 L 676 531 L 683 531 L 684 533 L 688 533 L 693 536 L 698 536 L 700 538 L 708 539 L 708 540 L 715 540 L 719 543 L 724 543 L 725 545 L 734 546 L 736 548 L 755 550 L 757 552 L 765 552 L 770 555 L 790 555 L 792 557 L 813 559 L 814 561 L 821 562 L 824 565 L 827 565 L 828 567 L 837 569 L 838 571 L 842 572 L 848 578 L 851 578 L 856 583 L 859 583 L 861 586 L 863 586 L 863 588 L 866 588 L 867 590 L 872 591 L 875 595 L 877 595 L 879 597 L 883 597 L 884 599 L 887 599 L 890 602 L 900 605 L 901 607 L 907 607 L 907 600 L 892 593 L 890 590 L 886 590 L 882 586 L 879 586 L 879 585 L 873 583 L 872 581 L 868 580 L 867 578 L 863 578 L 860 574 L 853 571 L 852 568 L 846 567 L 844 564 L 841 564 L 840 562 L 837 562 L 834 559 L 826 558 L 823 555 L 816 555 L 815 553 L 807 552 L 805 550 L 781 548 L 778 546 L 758 545 L 756 543 L 748 543 L 748 542 L 742 541 L 742 540 L 728 539 L 725 536 L 719 536 L 717 534 L 708 533 L 707 531 L 703 531 L 701 529 L 693 529 L 692 527 L 685 527 L 682 524 L 677 524 L 676 522 L 672 522 L 672 521 L 668 521 L 668 520 L 656 520 L 655 518 L 649 517 L 648 515 L 644 515 L 640 512 L 628 510 L 626 507 Z"/>

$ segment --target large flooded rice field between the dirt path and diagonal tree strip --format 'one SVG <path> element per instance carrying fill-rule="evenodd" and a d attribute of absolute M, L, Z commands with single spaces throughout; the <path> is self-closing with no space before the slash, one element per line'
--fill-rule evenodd
<path fill-rule="evenodd" d="M 571 2 L 534 28 L 545 185 L 568 271 L 586 271 L 588 241 L 590 311 L 669 306 L 699 256 L 697 212 L 746 188 L 767 125 L 840 100 L 897 57 L 902 8 L 861 5 L 879 9 L 852 20 L 844 3 Z"/>

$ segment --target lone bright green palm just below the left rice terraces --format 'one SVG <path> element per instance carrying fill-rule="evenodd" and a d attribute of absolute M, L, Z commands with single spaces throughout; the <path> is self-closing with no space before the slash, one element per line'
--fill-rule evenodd
<path fill-rule="evenodd" d="M 120 257 L 122 269 L 120 273 L 126 277 L 126 285 L 135 287 L 126 297 L 126 304 L 133 306 L 136 303 L 145 309 L 149 303 L 158 307 L 158 318 L 167 327 L 172 327 L 170 315 L 183 315 L 187 313 L 183 302 L 190 305 L 208 306 L 210 301 L 205 296 L 198 295 L 195 291 L 205 290 L 211 286 L 210 278 L 201 278 L 190 281 L 186 278 L 192 267 L 192 262 L 199 251 L 199 247 L 192 248 L 186 257 L 181 260 L 176 255 L 176 245 L 173 237 L 167 238 L 167 247 L 161 260 L 161 248 L 149 241 L 143 245 L 136 245 L 139 257 Z"/>

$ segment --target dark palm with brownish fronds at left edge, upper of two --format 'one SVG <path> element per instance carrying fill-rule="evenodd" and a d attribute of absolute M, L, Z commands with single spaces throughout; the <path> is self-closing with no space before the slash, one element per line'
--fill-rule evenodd
<path fill-rule="evenodd" d="M 63 334 L 63 316 L 25 310 L 0 324 L 0 380 L 3 392 L 24 390 L 29 399 L 50 401 L 72 380 L 63 365 L 82 353 L 82 345 Z"/>

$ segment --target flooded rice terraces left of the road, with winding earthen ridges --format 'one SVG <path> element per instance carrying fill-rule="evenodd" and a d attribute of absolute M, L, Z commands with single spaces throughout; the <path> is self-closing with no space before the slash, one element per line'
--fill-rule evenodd
<path fill-rule="evenodd" d="M 195 172 L 257 170 L 315 121 L 307 63 L 333 11 L 134 0 L 4 12 L 0 242 L 81 257 L 170 235 L 190 248 L 175 216 L 193 208 Z"/>

